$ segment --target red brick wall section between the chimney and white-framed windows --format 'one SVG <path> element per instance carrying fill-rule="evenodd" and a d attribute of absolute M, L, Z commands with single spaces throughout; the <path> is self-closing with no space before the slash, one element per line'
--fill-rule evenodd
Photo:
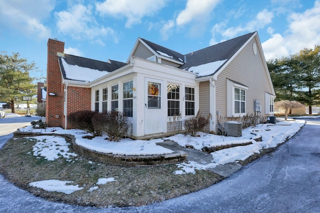
<path fill-rule="evenodd" d="M 66 114 L 69 115 L 72 112 L 82 111 L 82 110 L 91 110 L 91 88 L 84 87 L 67 87 L 67 111 Z M 66 129 L 72 129 L 72 125 L 68 122 L 66 117 Z M 65 128 L 63 118 L 63 128 Z"/>

